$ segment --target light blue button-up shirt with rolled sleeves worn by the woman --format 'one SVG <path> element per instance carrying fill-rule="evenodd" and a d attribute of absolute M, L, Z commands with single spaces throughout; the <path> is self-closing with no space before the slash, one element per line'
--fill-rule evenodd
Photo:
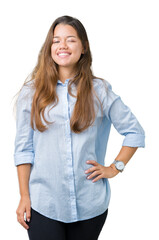
<path fill-rule="evenodd" d="M 93 79 L 94 89 L 102 102 L 95 122 L 80 134 L 70 131 L 70 118 L 76 98 L 68 94 L 67 79 L 57 83 L 59 103 L 45 117 L 55 121 L 49 129 L 33 131 L 30 126 L 33 89 L 23 86 L 18 96 L 14 161 L 15 166 L 31 163 L 29 193 L 31 207 L 40 214 L 65 223 L 90 219 L 109 206 L 110 185 L 107 178 L 92 182 L 85 173 L 95 160 L 105 166 L 111 123 L 124 136 L 122 146 L 145 147 L 145 133 L 139 121 L 111 84 Z M 105 86 L 108 87 L 107 91 Z M 76 95 L 73 86 L 72 93 Z M 94 98 L 96 99 L 96 98 Z M 96 100 L 97 101 L 97 100 Z M 43 119 L 42 119 L 43 120 Z M 46 123 L 43 121 L 46 125 Z M 113 160 L 112 160 L 113 161 Z"/>

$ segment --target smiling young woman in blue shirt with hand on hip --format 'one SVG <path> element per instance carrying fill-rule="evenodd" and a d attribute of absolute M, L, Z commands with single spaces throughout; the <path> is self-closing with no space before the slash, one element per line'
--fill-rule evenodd
<path fill-rule="evenodd" d="M 111 84 L 93 75 L 91 64 L 82 23 L 59 17 L 18 96 L 16 213 L 31 240 L 98 239 L 110 201 L 108 178 L 145 147 L 140 123 Z M 105 167 L 111 124 L 125 138 Z"/>

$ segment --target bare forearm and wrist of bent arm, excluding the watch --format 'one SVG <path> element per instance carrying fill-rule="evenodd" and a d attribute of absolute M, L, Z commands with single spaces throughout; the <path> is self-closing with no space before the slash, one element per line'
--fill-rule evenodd
<path fill-rule="evenodd" d="M 122 161 L 124 162 L 124 164 L 126 165 L 129 160 L 132 158 L 132 156 L 134 155 L 134 153 L 136 152 L 138 147 L 128 147 L 128 146 L 122 146 L 119 154 L 117 155 L 117 157 L 115 158 L 115 160 L 118 161 Z M 111 164 L 111 167 L 113 167 L 114 170 L 116 170 L 117 172 L 119 172 L 116 168 L 114 164 Z"/>

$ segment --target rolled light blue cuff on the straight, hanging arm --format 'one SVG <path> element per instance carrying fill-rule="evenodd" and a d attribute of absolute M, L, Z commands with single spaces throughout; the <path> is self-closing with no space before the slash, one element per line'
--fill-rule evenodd
<path fill-rule="evenodd" d="M 32 165 L 34 164 L 34 153 L 32 152 L 20 152 L 14 154 L 14 164 L 15 166 L 18 166 L 20 164 L 26 164 L 26 163 L 31 163 Z"/>

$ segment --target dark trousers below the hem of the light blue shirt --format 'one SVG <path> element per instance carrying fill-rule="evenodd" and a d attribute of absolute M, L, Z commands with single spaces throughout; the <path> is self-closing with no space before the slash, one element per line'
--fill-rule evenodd
<path fill-rule="evenodd" d="M 107 218 L 108 209 L 101 215 L 72 223 L 47 218 L 31 208 L 27 230 L 30 240 L 97 240 Z"/>

